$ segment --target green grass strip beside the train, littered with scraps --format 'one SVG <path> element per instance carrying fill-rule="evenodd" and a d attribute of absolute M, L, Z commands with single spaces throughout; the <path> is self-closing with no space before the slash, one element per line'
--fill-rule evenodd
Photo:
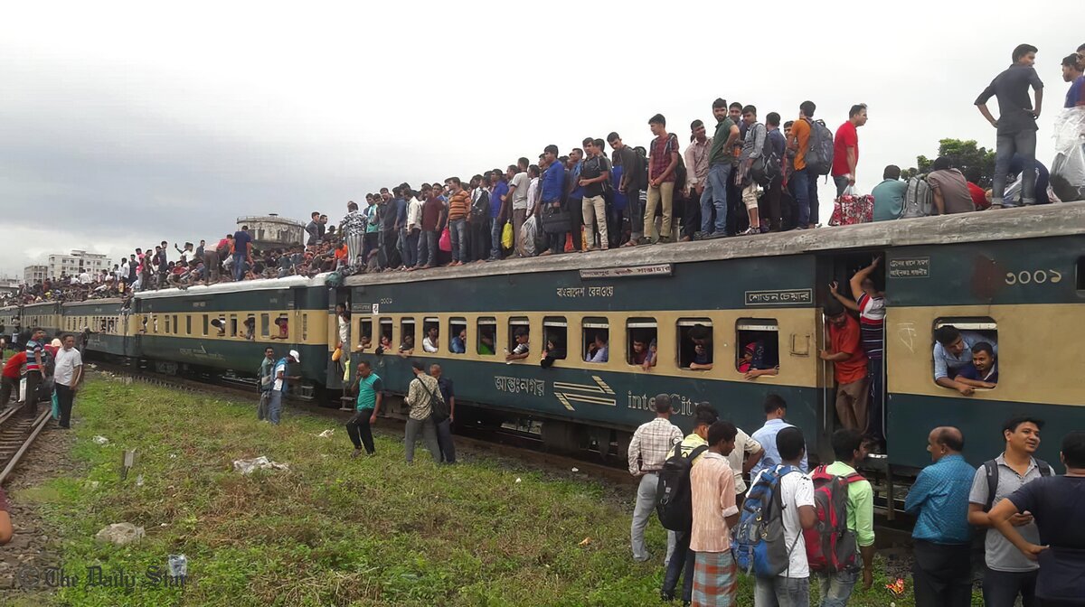
<path fill-rule="evenodd" d="M 595 481 L 487 457 L 438 467 L 421 450 L 408 466 L 391 431 L 378 435 L 376 457 L 350 460 L 342 427 L 317 437 L 335 427 L 331 421 L 290 415 L 273 427 L 257 423 L 254 409 L 89 382 L 75 410 L 73 456 L 82 476 L 16 499 L 40 504 L 68 573 L 85 577 L 88 565 L 100 565 L 140 579 L 131 589 L 62 589 L 54 604 L 660 605 L 664 531 L 649 527 L 656 558 L 631 561 L 631 494 L 616 499 Z M 110 443 L 95 444 L 97 435 Z M 139 455 L 122 481 L 125 449 Z M 258 455 L 290 470 L 233 473 L 233 460 Z M 99 529 L 122 521 L 144 527 L 146 538 L 123 547 L 94 541 Z M 189 561 L 183 590 L 142 577 L 181 553 Z M 876 578 L 851 604 L 888 606 L 886 582 Z M 739 605 L 753 604 L 751 585 L 741 580 Z"/>

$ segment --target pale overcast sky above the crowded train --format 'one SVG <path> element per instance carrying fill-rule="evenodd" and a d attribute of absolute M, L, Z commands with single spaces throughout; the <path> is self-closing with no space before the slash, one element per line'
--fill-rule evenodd
<path fill-rule="evenodd" d="M 833 130 L 867 103 L 856 172 L 869 192 L 941 138 L 993 147 L 972 102 L 1020 42 L 1039 48 L 1049 165 L 1060 61 L 1085 42 L 1069 0 L 720 7 L 9 4 L 0 275 L 72 248 L 217 238 L 244 215 L 337 223 L 382 185 L 465 179 L 612 130 L 646 144 L 656 112 L 685 145 L 717 96 L 784 120 L 809 99 Z M 831 196 L 822 184 L 822 221 Z"/>

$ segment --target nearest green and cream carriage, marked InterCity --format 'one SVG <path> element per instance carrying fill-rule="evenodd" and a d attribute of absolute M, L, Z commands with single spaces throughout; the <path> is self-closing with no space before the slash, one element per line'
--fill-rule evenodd
<path fill-rule="evenodd" d="M 1057 462 L 1061 432 L 1085 428 L 1081 204 L 350 276 L 330 304 L 349 302 L 352 335 L 374 336 L 374 345 L 387 336 L 395 350 L 413 335 L 413 358 L 443 365 L 458 403 L 540 419 L 544 440 L 556 447 L 593 440 L 621 452 L 661 392 L 676 400 L 686 429 L 693 404 L 707 400 L 752 431 L 763 423 L 764 397 L 776 392 L 812 451 L 827 456 L 837 419 L 832 366 L 818 357 L 827 340 L 821 305 L 830 282 L 846 290 L 873 256 L 883 258 L 878 277 L 889 302 L 888 463 L 924 465 L 927 435 L 943 424 L 963 429 L 978 463 L 1001 449 L 1000 424 L 1018 412 L 1048 422 L 1042 453 Z M 711 371 L 688 369 L 688 333 L 698 324 L 712 333 Z M 997 388 L 962 397 L 934 384 L 933 331 L 942 324 L 997 340 Z M 438 351 L 426 353 L 431 326 Z M 521 326 L 531 356 L 506 363 L 502 350 Z M 467 351 L 454 353 L 449 337 L 464 331 Z M 600 333 L 609 336 L 609 361 L 584 362 Z M 566 350 L 549 369 L 539 365 L 544 336 Z M 630 362 L 634 338 L 656 341 L 650 372 Z M 751 341 L 779 363 L 778 375 L 746 380 L 737 371 Z M 406 390 L 409 359 L 372 348 L 355 362 L 359 356 L 388 389 Z"/>

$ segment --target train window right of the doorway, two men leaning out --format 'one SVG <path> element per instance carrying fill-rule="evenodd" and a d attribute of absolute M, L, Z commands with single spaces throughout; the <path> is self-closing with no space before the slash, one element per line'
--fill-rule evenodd
<path fill-rule="evenodd" d="M 998 323 L 994 319 L 937 319 L 932 341 L 935 377 L 944 372 L 950 382 L 974 389 L 993 389 L 998 384 Z"/>

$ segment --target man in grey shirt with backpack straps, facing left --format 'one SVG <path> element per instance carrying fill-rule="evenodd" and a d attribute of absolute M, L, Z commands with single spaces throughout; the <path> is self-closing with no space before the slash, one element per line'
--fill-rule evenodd
<path fill-rule="evenodd" d="M 975 470 L 968 495 L 969 524 L 991 529 L 993 525 L 987 513 L 995 504 L 1029 482 L 1055 476 L 1051 466 L 1035 457 L 1043 427 L 1043 419 L 1029 416 L 1012 417 L 1003 425 L 1006 450 Z M 1039 543 L 1039 531 L 1031 514 L 1014 514 L 1010 522 L 1025 541 Z M 983 574 L 984 604 L 987 607 L 1012 607 L 1020 595 L 1024 607 L 1034 605 L 1039 565 L 1021 554 L 996 531 L 987 531 L 983 552 L 987 566 Z"/>

